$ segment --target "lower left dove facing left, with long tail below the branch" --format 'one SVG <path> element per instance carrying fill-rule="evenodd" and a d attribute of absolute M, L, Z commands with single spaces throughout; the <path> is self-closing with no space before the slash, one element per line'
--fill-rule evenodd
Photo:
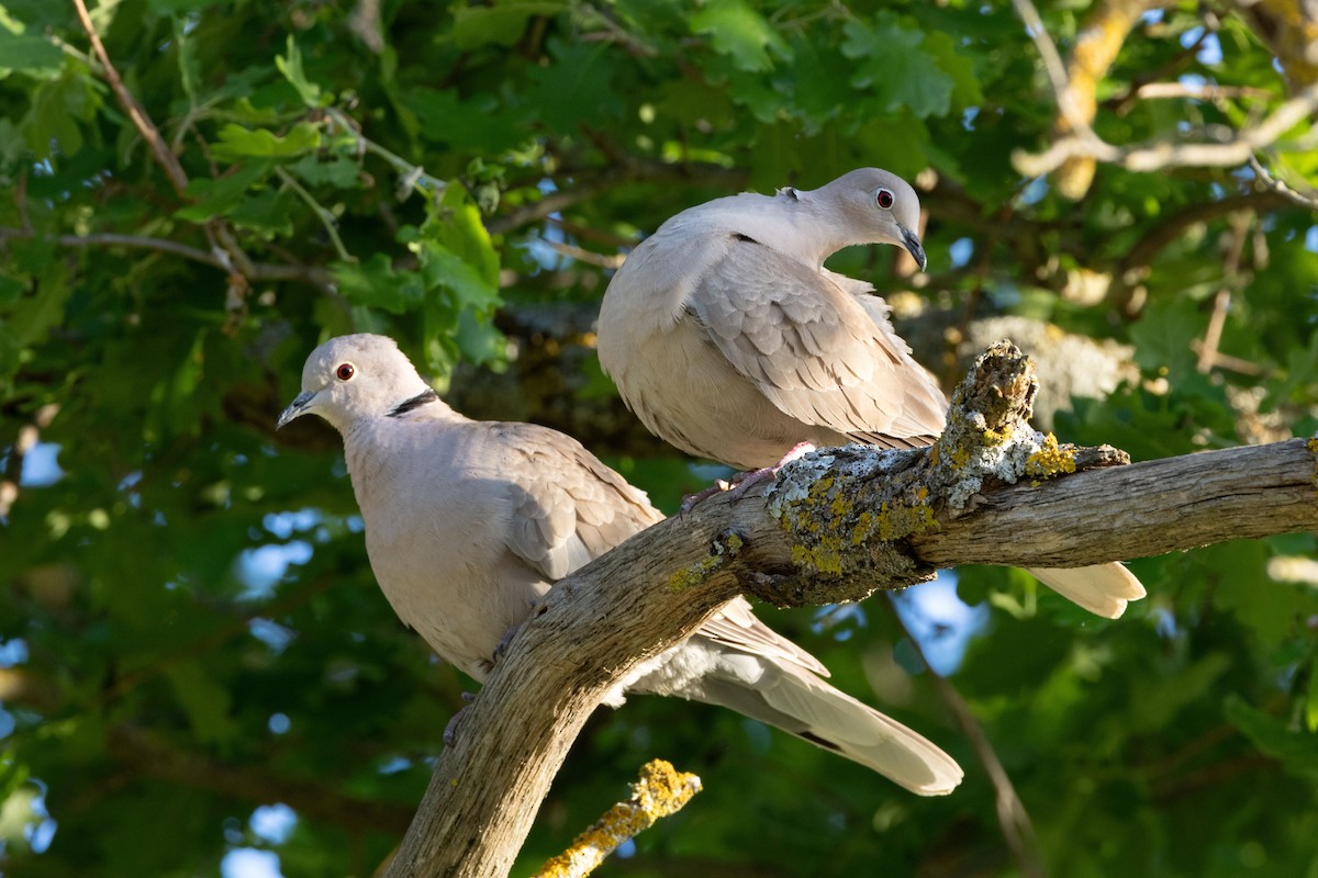
<path fill-rule="evenodd" d="M 381 590 L 403 623 L 477 681 L 555 581 L 663 519 L 577 441 L 459 415 L 389 338 L 320 345 L 302 391 L 279 426 L 315 413 L 343 434 Z M 737 598 L 623 686 L 730 707 L 921 795 L 957 786 L 952 757 L 826 675 Z M 622 703 L 621 687 L 609 703 Z"/>

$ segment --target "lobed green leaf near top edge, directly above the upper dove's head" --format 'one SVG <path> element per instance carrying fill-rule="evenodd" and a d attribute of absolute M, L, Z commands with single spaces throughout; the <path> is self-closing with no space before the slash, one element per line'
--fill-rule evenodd
<path fill-rule="evenodd" d="M 891 16 L 873 26 L 853 18 L 842 32 L 842 54 L 858 62 L 851 86 L 871 95 L 879 109 L 905 108 L 917 118 L 948 113 L 953 79 L 920 49 L 921 32 L 895 24 Z"/>

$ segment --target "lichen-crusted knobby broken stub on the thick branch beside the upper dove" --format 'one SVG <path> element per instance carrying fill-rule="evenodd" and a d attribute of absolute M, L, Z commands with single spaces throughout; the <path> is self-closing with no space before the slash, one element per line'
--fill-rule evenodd
<path fill-rule="evenodd" d="M 999 341 L 957 387 L 933 445 L 849 445 L 784 466 L 766 503 L 788 533 L 799 575 L 751 577 L 746 590 L 786 607 L 905 588 L 934 574 L 911 538 L 973 511 L 985 488 L 1130 462 L 1111 446 L 1064 445 L 1032 429 L 1037 387 L 1033 361 Z"/>

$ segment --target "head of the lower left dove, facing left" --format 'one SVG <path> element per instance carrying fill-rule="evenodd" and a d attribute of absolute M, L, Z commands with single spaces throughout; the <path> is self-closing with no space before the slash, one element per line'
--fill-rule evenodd
<path fill-rule="evenodd" d="M 279 415 L 278 426 L 302 415 L 319 415 L 343 433 L 355 421 L 436 399 L 393 338 L 340 336 L 311 351 L 302 367 L 302 392 Z"/>

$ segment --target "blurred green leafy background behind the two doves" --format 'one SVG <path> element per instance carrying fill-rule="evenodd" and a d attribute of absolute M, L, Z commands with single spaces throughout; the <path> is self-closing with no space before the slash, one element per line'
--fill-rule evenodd
<path fill-rule="evenodd" d="M 1246 5 L 1149 4 L 1098 83 L 1099 133 L 1194 140 L 1311 84 L 1269 42 L 1278 4 Z M 1102 5 L 1041 12 L 1065 54 Z M 303 358 L 369 329 L 440 380 L 501 369 L 500 309 L 597 301 L 608 270 L 583 250 L 616 255 L 701 200 L 863 165 L 919 180 L 928 305 L 1135 345 L 1140 380 L 1077 405 L 1065 438 L 1153 458 L 1315 426 L 1313 212 L 1248 167 L 1099 166 L 1078 203 L 1023 179 L 1012 153 L 1049 142 L 1056 108 L 1007 3 L 121 0 L 91 17 L 177 168 L 72 5 L 0 3 L 0 452 L 11 480 L 28 465 L 0 524 L 7 874 L 214 873 L 249 846 L 290 875 L 369 874 L 468 682 L 374 588 L 336 440 L 274 436 Z M 1188 91 L 1140 99 L 1152 82 Z M 1314 136 L 1302 121 L 1261 167 L 1314 186 Z M 832 265 L 895 292 L 912 284 L 895 255 Z M 1234 359 L 1203 373 L 1191 344 L 1222 290 Z M 34 429 L 58 478 L 24 458 Z M 708 479 L 596 450 L 666 508 Z M 962 571 L 992 609 L 950 679 L 1054 874 L 1318 875 L 1318 596 L 1268 573 L 1313 550 L 1301 534 L 1139 561 L 1151 595 L 1119 623 L 1019 571 Z M 870 603 L 837 625 L 764 615 L 948 748 L 967 770 L 954 795 L 638 698 L 592 719 L 519 869 L 664 757 L 706 791 L 601 874 L 1017 874 L 982 766 Z M 274 803 L 295 816 L 281 832 L 253 816 Z"/>

